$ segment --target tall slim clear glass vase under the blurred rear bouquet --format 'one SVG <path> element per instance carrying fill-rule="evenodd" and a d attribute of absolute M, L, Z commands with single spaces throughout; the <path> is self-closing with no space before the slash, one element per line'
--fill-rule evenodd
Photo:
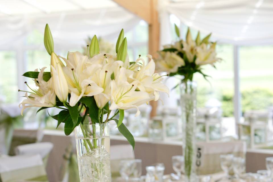
<path fill-rule="evenodd" d="M 186 182 L 196 182 L 196 88 L 195 82 L 180 85 L 182 127 L 183 127 L 183 155 L 184 174 Z"/>

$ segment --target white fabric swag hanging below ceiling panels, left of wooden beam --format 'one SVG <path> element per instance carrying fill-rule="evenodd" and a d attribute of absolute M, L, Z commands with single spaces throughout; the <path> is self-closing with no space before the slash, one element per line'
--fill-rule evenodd
<path fill-rule="evenodd" d="M 139 21 L 140 18 L 121 7 L 0 16 L 0 24 L 5 25 L 0 30 L 0 49 L 12 49 L 33 30 L 44 34 L 46 23 L 51 29 L 54 45 L 64 48 L 83 46 L 87 37 L 94 34 L 115 40 L 122 28 L 126 32 Z"/>

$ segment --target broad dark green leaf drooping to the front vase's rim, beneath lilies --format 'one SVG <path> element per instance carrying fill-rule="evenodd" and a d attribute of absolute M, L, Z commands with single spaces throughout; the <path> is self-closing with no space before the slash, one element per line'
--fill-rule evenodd
<path fill-rule="evenodd" d="M 93 122 L 99 123 L 99 108 L 94 97 L 82 97 L 79 102 L 82 102 L 89 107 L 89 117 Z"/>

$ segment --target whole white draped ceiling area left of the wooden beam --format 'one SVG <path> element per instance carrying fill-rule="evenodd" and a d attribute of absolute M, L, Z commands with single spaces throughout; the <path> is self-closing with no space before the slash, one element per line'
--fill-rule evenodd
<path fill-rule="evenodd" d="M 0 2 L 0 49 L 12 49 L 49 24 L 55 46 L 82 46 L 88 36 L 105 39 L 130 30 L 140 18 L 111 0 L 10 0 Z"/>

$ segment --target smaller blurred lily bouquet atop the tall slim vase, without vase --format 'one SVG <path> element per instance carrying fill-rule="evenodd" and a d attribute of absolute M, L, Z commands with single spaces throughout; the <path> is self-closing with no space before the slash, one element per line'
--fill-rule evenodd
<path fill-rule="evenodd" d="M 179 28 L 175 25 L 175 32 L 180 37 Z M 179 40 L 174 44 L 165 45 L 164 49 L 159 51 L 159 58 L 155 61 L 157 72 L 167 72 L 170 76 L 182 75 L 183 82 L 193 80 L 194 73 L 202 72 L 202 65 L 214 63 L 221 60 L 216 57 L 216 42 L 209 42 L 211 34 L 204 39 L 200 39 L 198 32 L 195 40 L 192 39 L 191 31 L 188 28 L 186 40 Z"/>

